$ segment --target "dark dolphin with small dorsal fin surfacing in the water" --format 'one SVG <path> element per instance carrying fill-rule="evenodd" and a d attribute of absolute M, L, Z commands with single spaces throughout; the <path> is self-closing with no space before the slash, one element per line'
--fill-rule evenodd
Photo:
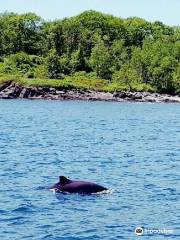
<path fill-rule="evenodd" d="M 85 181 L 74 181 L 64 176 L 59 177 L 59 182 L 49 187 L 48 189 L 56 192 L 68 192 L 68 193 L 80 193 L 80 194 L 91 194 L 98 193 L 107 188 L 102 187 L 96 183 L 85 182 Z"/>

